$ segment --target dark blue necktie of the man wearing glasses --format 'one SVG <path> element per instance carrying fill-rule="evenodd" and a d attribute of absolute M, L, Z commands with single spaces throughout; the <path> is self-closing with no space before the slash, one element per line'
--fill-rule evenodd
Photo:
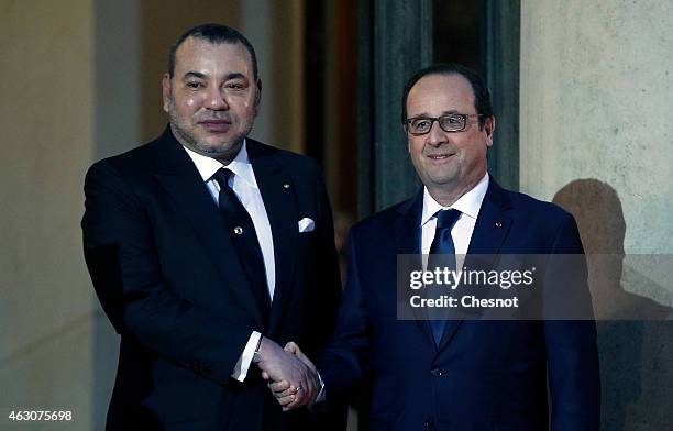
<path fill-rule="evenodd" d="M 441 268 L 441 270 L 443 270 L 444 267 L 449 268 L 449 270 L 455 270 L 455 246 L 451 237 L 451 228 L 453 228 L 459 217 L 461 217 L 461 211 L 454 209 L 440 210 L 435 216 L 437 228 L 434 229 L 434 239 L 430 246 L 427 270 L 434 272 L 435 268 Z M 431 297 L 439 297 L 441 292 L 446 291 L 445 286 L 430 286 L 429 288 L 432 289 Z M 446 321 L 441 318 L 442 314 L 445 316 L 446 312 L 443 311 L 439 317 L 437 313 L 429 312 L 432 336 L 438 345 L 442 340 L 446 325 Z"/>

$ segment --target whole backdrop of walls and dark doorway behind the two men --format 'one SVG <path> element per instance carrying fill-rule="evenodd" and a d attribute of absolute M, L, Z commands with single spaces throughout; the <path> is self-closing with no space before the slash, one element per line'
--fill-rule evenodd
<path fill-rule="evenodd" d="M 592 292 L 615 302 L 597 310 L 603 429 L 673 429 L 673 3 L 659 0 L 0 0 L 1 412 L 71 410 L 57 429 L 103 428 L 118 338 L 84 264 L 84 175 L 162 132 L 168 48 L 203 22 L 255 46 L 252 135 L 323 167 L 339 244 L 419 186 L 406 79 L 433 62 L 481 70 L 492 175 L 553 199 L 587 252 L 615 256 L 589 256 Z M 366 420 L 354 404 L 353 430 Z M 55 429 L 41 427 L 16 426 Z"/>

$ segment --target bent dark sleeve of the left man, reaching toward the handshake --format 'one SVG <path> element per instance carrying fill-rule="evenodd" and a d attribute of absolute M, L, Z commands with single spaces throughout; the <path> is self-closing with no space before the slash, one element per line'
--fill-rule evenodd
<path fill-rule="evenodd" d="M 162 274 L 152 223 L 110 163 L 85 180 L 85 258 L 117 332 L 175 363 L 227 383 L 254 328 L 180 297 Z"/>

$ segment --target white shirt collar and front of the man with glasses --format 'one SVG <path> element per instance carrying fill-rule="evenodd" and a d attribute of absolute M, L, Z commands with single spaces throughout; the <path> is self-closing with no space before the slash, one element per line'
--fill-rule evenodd
<path fill-rule="evenodd" d="M 455 247 L 455 261 L 456 269 L 463 266 L 465 262 L 465 255 L 470 247 L 470 240 L 472 239 L 472 232 L 476 224 L 484 196 L 488 189 L 488 174 L 484 175 L 484 178 L 467 191 L 461 196 L 459 200 L 453 202 L 451 207 L 442 207 L 432 196 L 428 192 L 428 188 L 423 188 L 423 211 L 421 213 L 421 251 L 424 256 L 430 253 L 430 246 L 434 239 L 434 230 L 437 228 L 437 211 L 455 209 L 461 211 L 461 217 L 451 228 L 451 239 Z M 426 261 L 426 259 L 423 259 Z"/>

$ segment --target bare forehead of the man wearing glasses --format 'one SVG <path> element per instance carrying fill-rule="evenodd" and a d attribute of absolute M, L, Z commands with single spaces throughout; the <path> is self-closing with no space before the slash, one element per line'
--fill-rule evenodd
<path fill-rule="evenodd" d="M 408 117 L 474 112 L 474 91 L 462 75 L 428 75 L 411 87 L 407 97 Z"/>

